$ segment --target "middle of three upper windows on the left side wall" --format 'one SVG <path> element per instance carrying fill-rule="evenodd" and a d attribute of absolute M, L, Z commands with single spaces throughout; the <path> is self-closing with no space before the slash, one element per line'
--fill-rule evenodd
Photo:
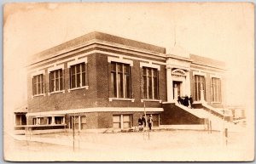
<path fill-rule="evenodd" d="M 62 70 L 49 72 L 49 92 L 63 90 L 63 74 Z"/>

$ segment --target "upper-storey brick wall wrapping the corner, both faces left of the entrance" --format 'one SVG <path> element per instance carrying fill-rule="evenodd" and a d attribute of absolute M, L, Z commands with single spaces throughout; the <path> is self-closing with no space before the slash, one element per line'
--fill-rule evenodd
<path fill-rule="evenodd" d="M 89 107 L 143 107 L 140 61 L 133 60 L 131 66 L 131 95 L 134 102 L 113 100 L 111 98 L 110 84 L 110 63 L 105 54 L 90 54 L 87 56 L 88 63 L 86 83 L 89 89 L 78 89 L 68 92 L 70 86 L 70 75 L 67 63 L 64 64 L 64 88 L 65 93 L 49 93 L 49 73 L 45 69 L 44 89 L 45 96 L 32 98 L 32 77 L 27 76 L 28 85 L 28 110 L 29 112 L 42 112 L 51 110 L 70 110 Z M 166 101 L 166 69 L 165 65 L 160 65 L 159 71 L 159 96 L 162 101 Z M 160 102 L 146 102 L 147 107 L 161 107 Z"/>

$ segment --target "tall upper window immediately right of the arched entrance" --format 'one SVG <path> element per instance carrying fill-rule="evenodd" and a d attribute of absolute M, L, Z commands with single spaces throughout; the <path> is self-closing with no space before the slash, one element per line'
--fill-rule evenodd
<path fill-rule="evenodd" d="M 206 99 L 206 80 L 205 76 L 195 75 L 195 101 L 201 100 L 201 89 L 204 90 L 204 96 Z"/>

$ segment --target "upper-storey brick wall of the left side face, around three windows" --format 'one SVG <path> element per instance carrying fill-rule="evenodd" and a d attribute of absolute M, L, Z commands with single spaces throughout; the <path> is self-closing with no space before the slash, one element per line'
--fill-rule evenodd
<path fill-rule="evenodd" d="M 88 56 L 88 79 L 89 89 L 78 89 L 68 92 L 70 86 L 69 69 L 67 63 L 64 65 L 64 88 L 65 93 L 49 93 L 49 74 L 45 70 L 45 96 L 35 96 L 32 98 L 32 78 L 28 75 L 28 110 L 29 112 L 51 111 L 51 110 L 69 110 L 88 108 L 96 106 L 96 56 Z"/>

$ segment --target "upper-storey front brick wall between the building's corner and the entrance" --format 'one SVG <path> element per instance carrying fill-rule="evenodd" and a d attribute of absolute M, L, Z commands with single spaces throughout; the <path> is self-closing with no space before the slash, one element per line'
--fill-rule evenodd
<path fill-rule="evenodd" d="M 97 106 L 103 107 L 143 107 L 141 88 L 141 75 L 143 69 L 140 68 L 140 61 L 133 60 L 131 66 L 131 98 L 134 102 L 124 100 L 109 101 L 113 98 L 111 84 L 111 64 L 108 63 L 108 56 L 104 54 L 96 55 L 96 82 L 97 82 Z M 160 66 L 159 71 L 159 95 L 162 101 L 166 101 L 166 68 Z M 160 107 L 159 102 L 147 102 L 147 107 Z"/>

